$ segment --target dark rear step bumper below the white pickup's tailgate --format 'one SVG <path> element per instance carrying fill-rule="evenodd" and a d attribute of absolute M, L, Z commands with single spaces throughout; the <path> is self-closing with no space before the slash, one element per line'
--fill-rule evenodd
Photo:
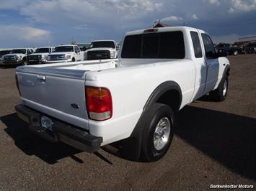
<path fill-rule="evenodd" d="M 96 152 L 100 149 L 102 137 L 92 136 L 87 131 L 83 131 L 76 126 L 66 124 L 63 121 L 51 117 L 49 118 L 53 121 L 53 131 L 50 131 L 42 127 L 40 122 L 41 117 L 47 115 L 32 110 L 22 104 L 15 106 L 15 109 L 19 118 L 30 124 L 30 131 L 33 131 L 43 139 L 51 142 L 61 141 L 85 152 Z"/>

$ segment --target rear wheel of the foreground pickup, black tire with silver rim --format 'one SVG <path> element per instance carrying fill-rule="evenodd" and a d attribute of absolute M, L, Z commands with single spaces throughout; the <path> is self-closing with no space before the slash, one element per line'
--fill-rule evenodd
<path fill-rule="evenodd" d="M 144 160 L 153 162 L 164 157 L 173 138 L 174 112 L 161 103 L 154 103 L 146 114 L 141 154 Z"/>

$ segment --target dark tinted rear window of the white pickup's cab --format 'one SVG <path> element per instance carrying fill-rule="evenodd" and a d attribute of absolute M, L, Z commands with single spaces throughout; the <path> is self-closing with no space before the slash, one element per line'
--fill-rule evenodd
<path fill-rule="evenodd" d="M 125 37 L 123 58 L 170 58 L 185 57 L 183 34 L 177 32 L 159 32 L 136 34 Z"/>

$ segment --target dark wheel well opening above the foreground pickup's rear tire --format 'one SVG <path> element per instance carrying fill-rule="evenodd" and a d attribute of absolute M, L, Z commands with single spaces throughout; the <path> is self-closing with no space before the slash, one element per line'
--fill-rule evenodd
<path fill-rule="evenodd" d="M 167 90 L 158 98 L 156 103 L 165 104 L 177 112 L 180 108 L 180 93 L 177 90 Z"/>

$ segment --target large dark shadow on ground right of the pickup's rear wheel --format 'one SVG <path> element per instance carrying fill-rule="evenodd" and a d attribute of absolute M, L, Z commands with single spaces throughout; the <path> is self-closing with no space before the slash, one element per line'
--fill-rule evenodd
<path fill-rule="evenodd" d="M 187 106 L 175 134 L 242 176 L 256 179 L 256 119 Z"/>

